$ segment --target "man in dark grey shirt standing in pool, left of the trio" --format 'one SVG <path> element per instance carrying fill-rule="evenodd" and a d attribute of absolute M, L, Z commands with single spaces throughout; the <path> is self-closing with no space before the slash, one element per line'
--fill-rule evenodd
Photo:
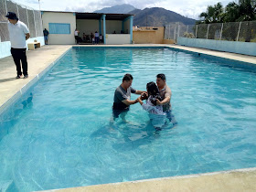
<path fill-rule="evenodd" d="M 124 116 L 129 111 L 130 105 L 138 102 L 137 100 L 131 101 L 131 92 L 134 94 L 142 94 L 144 91 L 134 90 L 131 86 L 133 83 L 133 76 L 129 73 L 123 76 L 122 84 L 116 88 L 113 97 L 112 114 L 113 120 L 119 117 L 125 121 Z"/>

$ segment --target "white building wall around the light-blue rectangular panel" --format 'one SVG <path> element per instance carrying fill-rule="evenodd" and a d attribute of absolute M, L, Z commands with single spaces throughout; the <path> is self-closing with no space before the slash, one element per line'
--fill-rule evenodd
<path fill-rule="evenodd" d="M 43 28 L 49 28 L 49 23 L 70 24 L 70 34 L 49 34 L 48 44 L 75 44 L 74 31 L 76 29 L 76 16 L 73 13 L 43 12 Z"/>

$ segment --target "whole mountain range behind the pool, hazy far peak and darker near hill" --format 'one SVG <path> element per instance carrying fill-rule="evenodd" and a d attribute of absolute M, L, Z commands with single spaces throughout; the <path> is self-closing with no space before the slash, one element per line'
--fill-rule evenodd
<path fill-rule="evenodd" d="M 105 14 L 131 14 L 133 16 L 133 26 L 141 27 L 164 27 L 173 22 L 181 22 L 184 25 L 194 25 L 196 20 L 181 16 L 176 12 L 166 10 L 165 8 L 153 7 L 145 8 L 144 10 L 136 9 L 133 5 L 114 5 L 105 7 L 93 13 Z"/>

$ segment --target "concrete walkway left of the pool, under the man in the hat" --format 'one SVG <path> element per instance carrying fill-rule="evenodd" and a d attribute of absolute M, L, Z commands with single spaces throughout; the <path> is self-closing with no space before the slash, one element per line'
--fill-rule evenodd
<path fill-rule="evenodd" d="M 0 59 L 0 108 L 69 48 L 71 46 L 43 46 L 27 51 L 27 79 L 16 80 L 16 65 L 11 56 Z"/>

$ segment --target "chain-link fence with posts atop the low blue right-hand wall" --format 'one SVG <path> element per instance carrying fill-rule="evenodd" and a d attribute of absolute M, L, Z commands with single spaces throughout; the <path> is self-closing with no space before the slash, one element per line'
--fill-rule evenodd
<path fill-rule="evenodd" d="M 256 43 L 256 21 L 198 24 L 191 26 L 186 26 L 182 23 L 166 25 L 165 39 L 176 40 L 177 37 Z"/>

